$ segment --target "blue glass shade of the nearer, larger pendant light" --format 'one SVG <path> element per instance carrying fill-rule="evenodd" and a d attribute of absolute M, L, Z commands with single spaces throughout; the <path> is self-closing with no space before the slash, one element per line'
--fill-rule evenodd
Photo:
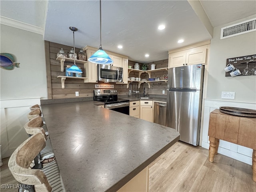
<path fill-rule="evenodd" d="M 113 63 L 112 59 L 106 54 L 106 52 L 102 49 L 102 46 L 96 51 L 88 61 L 96 64 L 111 64 Z"/>

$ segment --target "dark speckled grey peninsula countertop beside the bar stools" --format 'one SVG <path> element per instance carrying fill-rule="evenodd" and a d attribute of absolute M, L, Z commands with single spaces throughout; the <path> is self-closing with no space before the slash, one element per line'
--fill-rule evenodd
<path fill-rule="evenodd" d="M 116 191 L 180 137 L 172 128 L 95 104 L 41 106 L 68 192 Z"/>

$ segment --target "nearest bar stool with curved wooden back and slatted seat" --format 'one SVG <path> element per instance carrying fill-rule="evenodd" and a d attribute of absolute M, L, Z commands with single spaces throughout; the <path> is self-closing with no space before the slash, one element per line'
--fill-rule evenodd
<path fill-rule="evenodd" d="M 20 186 L 29 192 L 63 191 L 64 187 L 56 161 L 51 162 L 42 170 L 29 168 L 32 160 L 45 145 L 45 136 L 42 133 L 34 134 L 20 144 L 9 159 L 10 172 L 15 180 L 23 184 Z"/>

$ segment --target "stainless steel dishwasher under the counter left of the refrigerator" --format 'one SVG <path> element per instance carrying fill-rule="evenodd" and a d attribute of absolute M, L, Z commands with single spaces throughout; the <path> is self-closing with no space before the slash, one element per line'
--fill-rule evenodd
<path fill-rule="evenodd" d="M 154 123 L 164 125 L 166 120 L 166 103 L 154 102 Z"/>

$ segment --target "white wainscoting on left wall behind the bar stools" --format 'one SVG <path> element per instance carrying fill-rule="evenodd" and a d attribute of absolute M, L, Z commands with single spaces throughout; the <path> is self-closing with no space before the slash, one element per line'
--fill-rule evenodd
<path fill-rule="evenodd" d="M 14 150 L 28 138 L 24 124 L 28 122 L 30 106 L 40 105 L 40 98 L 13 98 L 0 100 L 1 156 L 11 156 Z"/>

